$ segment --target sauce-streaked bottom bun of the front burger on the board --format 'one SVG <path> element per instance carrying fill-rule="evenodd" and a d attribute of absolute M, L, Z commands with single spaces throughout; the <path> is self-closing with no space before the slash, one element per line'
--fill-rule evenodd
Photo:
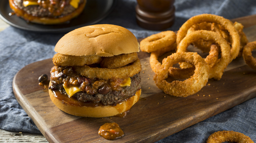
<path fill-rule="evenodd" d="M 134 96 L 128 98 L 127 100 L 118 103 L 116 106 L 112 105 L 96 105 L 96 106 L 79 106 L 67 103 L 57 97 L 55 97 L 54 91 L 49 89 L 49 94 L 53 103 L 62 111 L 81 117 L 110 117 L 119 115 L 125 111 L 130 110 L 130 108 L 139 101 L 139 96 L 141 94 L 141 89 L 137 90 Z M 67 95 L 65 95 L 67 96 Z M 77 101 L 79 102 L 79 101 Z"/>

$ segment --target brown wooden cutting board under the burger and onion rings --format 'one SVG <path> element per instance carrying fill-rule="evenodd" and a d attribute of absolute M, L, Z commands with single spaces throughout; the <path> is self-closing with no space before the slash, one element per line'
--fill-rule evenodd
<path fill-rule="evenodd" d="M 236 19 L 246 25 L 249 41 L 256 40 L 255 16 Z M 254 25 L 254 26 L 251 26 Z M 198 93 L 181 98 L 164 94 L 153 81 L 149 54 L 139 52 L 142 92 L 124 118 L 85 118 L 66 114 L 51 101 L 48 89 L 38 85 L 38 77 L 53 67 L 52 59 L 21 69 L 13 79 L 17 101 L 49 142 L 154 142 L 204 119 L 256 97 L 256 71 L 242 57 L 233 60 L 219 81 L 209 80 Z M 101 125 L 116 122 L 125 136 L 109 141 L 97 134 Z"/>

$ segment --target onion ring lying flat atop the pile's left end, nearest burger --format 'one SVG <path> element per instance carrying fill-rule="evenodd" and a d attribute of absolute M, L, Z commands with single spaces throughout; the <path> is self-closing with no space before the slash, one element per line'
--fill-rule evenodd
<path fill-rule="evenodd" d="M 173 31 L 163 31 L 153 34 L 140 41 L 140 50 L 143 52 L 154 52 L 176 42 L 176 34 Z"/>

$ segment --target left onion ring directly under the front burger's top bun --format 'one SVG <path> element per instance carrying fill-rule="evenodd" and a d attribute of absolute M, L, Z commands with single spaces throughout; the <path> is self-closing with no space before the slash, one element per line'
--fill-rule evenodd
<path fill-rule="evenodd" d="M 83 66 L 100 63 L 102 58 L 97 55 L 91 56 L 71 56 L 63 54 L 55 54 L 53 56 L 53 64 L 55 66 Z"/>

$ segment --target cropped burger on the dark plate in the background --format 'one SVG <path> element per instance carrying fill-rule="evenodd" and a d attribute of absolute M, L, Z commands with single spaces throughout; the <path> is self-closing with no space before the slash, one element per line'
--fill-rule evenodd
<path fill-rule="evenodd" d="M 86 0 L 9 0 L 13 12 L 37 24 L 62 24 L 77 17 Z"/>

